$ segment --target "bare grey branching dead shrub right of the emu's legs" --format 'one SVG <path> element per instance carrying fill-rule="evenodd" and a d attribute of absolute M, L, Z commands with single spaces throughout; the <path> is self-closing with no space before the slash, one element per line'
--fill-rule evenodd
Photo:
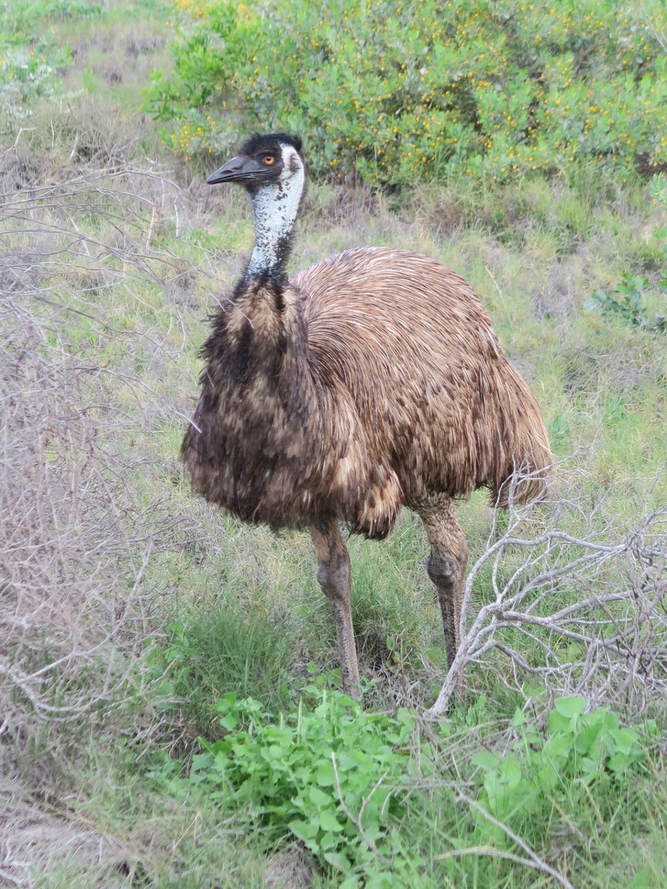
<path fill-rule="evenodd" d="M 442 715 L 465 669 L 491 666 L 492 653 L 509 661 L 517 689 L 533 676 L 554 694 L 633 706 L 667 690 L 667 507 L 615 543 L 592 515 L 581 535 L 555 524 L 572 526 L 575 514 L 581 521 L 579 504 L 554 500 L 510 509 L 502 533 L 494 525 L 465 583 L 461 647 L 428 717 Z M 473 590 L 486 599 L 477 610 Z"/>

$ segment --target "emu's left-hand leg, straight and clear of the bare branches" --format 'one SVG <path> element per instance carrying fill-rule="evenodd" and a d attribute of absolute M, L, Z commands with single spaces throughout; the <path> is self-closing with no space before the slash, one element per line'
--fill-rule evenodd
<path fill-rule="evenodd" d="M 359 693 L 359 668 L 350 609 L 350 556 L 334 522 L 319 522 L 310 528 L 317 553 L 317 580 L 331 602 L 341 659 L 342 687 L 352 697 Z"/>

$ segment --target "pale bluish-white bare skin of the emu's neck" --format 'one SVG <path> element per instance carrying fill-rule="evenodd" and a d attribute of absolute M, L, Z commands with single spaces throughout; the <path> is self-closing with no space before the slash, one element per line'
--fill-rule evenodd
<path fill-rule="evenodd" d="M 280 145 L 283 169 L 280 177 L 253 196 L 254 246 L 245 278 L 280 276 L 290 235 L 299 212 L 306 172 L 298 152 Z"/>

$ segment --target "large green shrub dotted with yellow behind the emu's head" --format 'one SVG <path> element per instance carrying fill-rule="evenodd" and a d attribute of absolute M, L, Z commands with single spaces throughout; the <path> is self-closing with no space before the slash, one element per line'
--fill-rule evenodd
<path fill-rule="evenodd" d="M 257 128 L 301 132 L 318 172 L 382 184 L 667 164 L 657 2 L 177 5 L 175 72 L 153 75 L 149 101 L 182 156 Z"/>

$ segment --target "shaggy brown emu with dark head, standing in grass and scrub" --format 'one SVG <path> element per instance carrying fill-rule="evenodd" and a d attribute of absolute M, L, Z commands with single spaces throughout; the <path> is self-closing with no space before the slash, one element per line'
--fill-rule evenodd
<path fill-rule="evenodd" d="M 340 526 L 381 540 L 422 519 L 451 666 L 467 547 L 454 501 L 541 496 L 541 412 L 477 294 L 435 260 L 349 250 L 285 274 L 306 184 L 301 138 L 255 134 L 213 172 L 253 204 L 247 268 L 213 316 L 181 455 L 193 489 L 247 523 L 308 528 L 333 606 L 343 688 L 358 693 L 350 557 Z"/>

